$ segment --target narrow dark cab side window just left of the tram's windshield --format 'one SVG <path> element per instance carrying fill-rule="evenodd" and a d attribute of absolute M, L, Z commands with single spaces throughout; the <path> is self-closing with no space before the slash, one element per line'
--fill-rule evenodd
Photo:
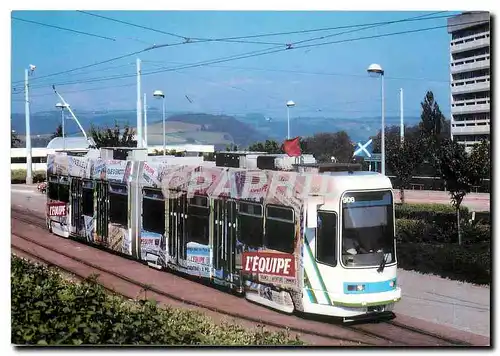
<path fill-rule="evenodd" d="M 318 211 L 316 229 L 316 259 L 320 263 L 337 265 L 335 245 L 337 241 L 337 214 Z"/>

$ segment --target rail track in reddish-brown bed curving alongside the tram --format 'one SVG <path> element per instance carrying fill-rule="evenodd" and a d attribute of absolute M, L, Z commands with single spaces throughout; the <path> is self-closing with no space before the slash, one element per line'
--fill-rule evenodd
<path fill-rule="evenodd" d="M 30 212 L 16 209 L 14 207 L 11 211 L 13 220 L 17 220 L 23 224 L 32 225 L 39 229 L 41 228 L 45 231 L 47 230 L 45 218 Z M 74 243 L 76 246 L 78 246 L 78 244 L 81 244 L 74 240 L 64 240 L 71 241 L 71 243 Z M 23 243 L 21 243 L 21 241 Z M 269 318 L 263 320 L 262 318 L 256 316 L 243 315 L 231 310 L 223 310 L 221 308 L 214 307 L 213 305 L 190 299 L 188 293 L 187 296 L 179 296 L 173 293 L 169 293 L 168 291 L 162 290 L 160 288 L 147 285 L 137 279 L 133 279 L 122 273 L 117 273 L 115 271 L 103 268 L 102 266 L 99 266 L 95 263 L 91 263 L 85 259 L 79 258 L 74 254 L 63 251 L 61 250 L 61 248 L 57 248 L 55 244 L 50 244 L 49 242 L 41 242 L 39 239 L 26 236 L 26 234 L 14 231 L 14 229 L 12 231 L 11 244 L 13 250 L 19 251 L 21 254 L 27 255 L 28 257 L 39 260 L 43 263 L 55 265 L 58 268 L 76 275 L 76 277 L 81 279 L 84 279 L 88 276 L 89 270 L 93 271 L 92 273 L 99 274 L 99 283 L 103 284 L 105 288 L 107 287 L 107 284 L 104 283 L 104 281 L 119 281 L 119 283 L 121 283 L 122 287 L 124 288 L 129 288 L 131 290 L 147 290 L 149 293 L 163 298 L 168 304 L 183 304 L 216 313 L 222 316 L 229 316 L 236 320 L 242 320 L 244 322 L 258 323 L 260 325 L 266 325 L 271 328 L 284 328 L 284 324 L 282 322 L 269 320 Z M 35 252 L 35 249 L 38 252 Z M 53 259 L 47 258 L 46 256 L 50 253 L 57 254 L 58 256 L 60 256 L 60 258 L 66 259 L 66 263 L 71 263 L 73 267 L 67 268 L 61 266 L 60 263 L 55 262 Z M 130 262 L 140 263 L 138 261 Z M 86 272 L 78 272 L 79 270 L 86 270 Z M 210 288 L 206 288 L 207 293 L 210 293 Z M 107 289 L 110 288 L 108 287 Z M 115 292 L 114 290 L 112 291 Z M 234 296 L 234 298 L 238 297 Z M 240 298 L 238 303 L 249 302 Z M 280 313 L 278 312 L 276 312 L 275 314 L 280 315 Z M 292 315 L 287 315 L 286 317 L 296 318 L 296 316 Z M 323 327 L 311 329 L 300 326 L 288 326 L 288 330 L 293 333 L 298 333 L 301 336 L 323 339 L 323 342 L 335 339 L 351 345 L 362 346 L 473 346 L 473 344 L 462 340 L 437 335 L 425 330 L 417 329 L 412 326 L 401 324 L 394 320 L 381 320 L 376 323 L 368 321 L 363 323 L 342 324 L 337 320 L 334 320 L 333 318 L 327 317 L 314 317 L 308 319 L 313 320 L 315 323 L 323 324 Z M 324 326 L 330 326 L 331 329 L 325 330 Z M 344 331 L 344 333 L 339 333 L 339 331 Z"/>

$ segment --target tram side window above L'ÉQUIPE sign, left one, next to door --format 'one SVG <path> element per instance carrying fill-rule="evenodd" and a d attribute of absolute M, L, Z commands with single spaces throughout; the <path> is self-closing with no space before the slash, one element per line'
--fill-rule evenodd
<path fill-rule="evenodd" d="M 239 204 L 238 236 L 240 242 L 249 247 L 264 246 L 264 215 L 262 205 L 252 203 Z"/>

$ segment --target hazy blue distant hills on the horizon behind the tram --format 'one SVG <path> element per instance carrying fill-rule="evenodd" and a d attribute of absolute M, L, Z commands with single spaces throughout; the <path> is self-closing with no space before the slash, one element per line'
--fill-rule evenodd
<path fill-rule="evenodd" d="M 75 112 L 83 128 L 88 132 L 91 124 L 95 126 L 112 126 L 115 120 L 120 125 L 129 124 L 135 127 L 135 110 Z M 69 115 L 68 115 L 69 117 Z M 148 141 L 161 144 L 162 122 L 158 110 L 148 111 Z M 419 122 L 418 117 L 405 117 L 405 124 L 412 126 Z M 31 134 L 50 135 L 61 122 L 59 111 L 39 112 L 31 115 Z M 399 125 L 399 117 L 386 117 L 386 124 Z M 11 126 L 21 137 L 25 134 L 24 114 L 13 113 Z M 380 117 L 363 118 L 329 118 L 329 117 L 296 117 L 291 118 L 292 137 L 311 136 L 318 132 L 337 132 L 345 130 L 353 141 L 366 141 L 380 128 Z M 260 113 L 249 113 L 243 116 L 210 115 L 204 113 L 174 113 L 166 120 L 167 142 L 170 144 L 199 143 L 213 144 L 224 148 L 228 144 L 246 147 L 256 141 L 268 138 L 279 142 L 286 137 L 287 124 L 283 118 L 269 118 Z M 66 133 L 77 135 L 80 130 L 73 120 L 66 121 Z M 38 140 L 37 140 L 38 141 Z M 41 142 L 41 141 L 40 141 Z M 33 143 L 35 145 L 35 143 Z"/>

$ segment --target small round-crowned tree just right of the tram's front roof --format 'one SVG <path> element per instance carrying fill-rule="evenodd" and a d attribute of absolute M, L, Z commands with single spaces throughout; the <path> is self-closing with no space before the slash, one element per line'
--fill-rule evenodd
<path fill-rule="evenodd" d="M 405 138 L 401 143 L 399 137 L 391 137 L 387 141 L 387 167 L 396 176 L 403 204 L 405 202 L 404 190 L 408 188 L 423 160 L 420 142 L 418 139 Z"/>

